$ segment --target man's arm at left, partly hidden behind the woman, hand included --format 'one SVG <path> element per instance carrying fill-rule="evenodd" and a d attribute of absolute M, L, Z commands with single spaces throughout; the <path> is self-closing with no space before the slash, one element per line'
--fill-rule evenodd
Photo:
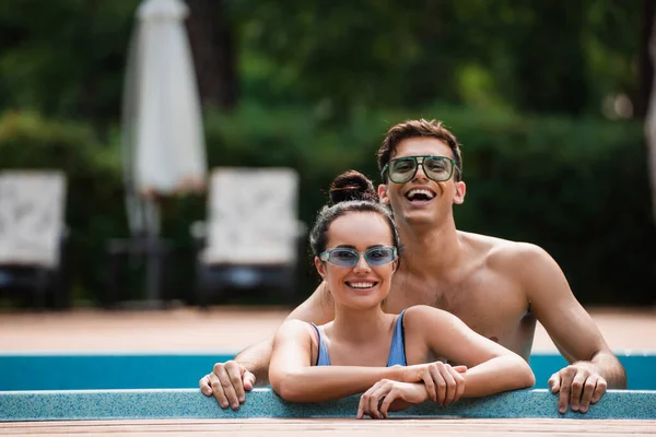
<path fill-rule="evenodd" d="M 332 298 L 326 283 L 319 284 L 317 290 L 285 320 L 298 319 L 326 323 L 335 317 Z M 269 383 L 269 362 L 273 349 L 273 333 L 253 346 L 242 351 L 234 361 L 216 363 L 212 373 L 203 376 L 198 382 L 204 395 L 214 395 L 221 408 L 231 406 L 237 410 L 246 400 L 245 391 L 250 391 L 254 386 Z"/>

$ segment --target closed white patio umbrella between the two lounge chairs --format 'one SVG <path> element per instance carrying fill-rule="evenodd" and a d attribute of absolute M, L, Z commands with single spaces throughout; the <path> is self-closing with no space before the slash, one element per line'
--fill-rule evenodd
<path fill-rule="evenodd" d="M 156 244 L 162 196 L 199 191 L 207 160 L 201 109 L 180 0 L 144 0 L 137 10 L 122 104 L 127 210 L 133 236 Z M 149 260 L 148 296 L 157 287 L 156 257 Z M 152 261 L 152 262 L 151 262 Z"/>

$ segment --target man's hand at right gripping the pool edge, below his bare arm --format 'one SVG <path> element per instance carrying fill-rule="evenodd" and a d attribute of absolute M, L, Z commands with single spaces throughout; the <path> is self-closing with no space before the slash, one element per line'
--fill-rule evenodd
<path fill-rule="evenodd" d="M 551 375 L 549 387 L 552 393 L 560 391 L 558 411 L 565 414 L 567 403 L 572 411 L 586 413 L 590 403 L 599 402 L 608 383 L 591 363 L 574 363 Z"/>

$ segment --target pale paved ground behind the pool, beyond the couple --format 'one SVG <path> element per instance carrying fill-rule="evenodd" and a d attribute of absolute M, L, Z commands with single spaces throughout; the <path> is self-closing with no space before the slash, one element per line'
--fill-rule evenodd
<path fill-rule="evenodd" d="M 614 351 L 656 351 L 656 308 L 589 308 Z M 172 310 L 74 310 L 0 314 L 1 351 L 216 352 L 237 351 L 271 335 L 280 308 L 216 307 Z M 538 326 L 534 351 L 555 351 Z"/>

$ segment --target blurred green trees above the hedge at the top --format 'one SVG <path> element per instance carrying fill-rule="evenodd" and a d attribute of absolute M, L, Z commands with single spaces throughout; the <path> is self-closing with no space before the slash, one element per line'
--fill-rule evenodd
<path fill-rule="evenodd" d="M 639 92 L 636 2 L 223 2 L 243 96 L 338 120 L 435 102 L 598 115 L 605 96 Z M 0 2 L 0 107 L 115 123 L 138 4 Z"/>

